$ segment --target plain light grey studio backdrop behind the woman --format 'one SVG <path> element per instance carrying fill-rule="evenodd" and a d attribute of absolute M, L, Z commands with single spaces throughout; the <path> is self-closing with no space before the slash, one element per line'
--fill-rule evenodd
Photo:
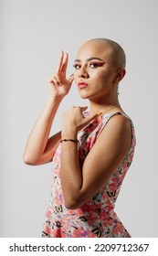
<path fill-rule="evenodd" d="M 0 1 L 0 236 L 40 237 L 51 186 L 51 165 L 29 166 L 22 155 L 47 97 L 47 77 L 61 49 L 68 75 L 77 50 L 93 37 L 119 42 L 127 54 L 120 101 L 137 134 L 134 161 L 116 212 L 132 237 L 158 236 L 157 46 L 155 0 Z M 71 105 L 85 105 L 75 85 L 55 121 Z"/>

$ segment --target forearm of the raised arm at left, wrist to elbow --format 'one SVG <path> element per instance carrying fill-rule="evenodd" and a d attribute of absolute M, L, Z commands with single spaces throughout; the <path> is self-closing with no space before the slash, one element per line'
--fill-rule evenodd
<path fill-rule="evenodd" d="M 50 96 L 47 97 L 45 107 L 39 115 L 26 143 L 24 152 L 26 163 L 36 164 L 37 159 L 44 154 L 50 129 L 61 101 L 62 98 L 52 99 Z"/>

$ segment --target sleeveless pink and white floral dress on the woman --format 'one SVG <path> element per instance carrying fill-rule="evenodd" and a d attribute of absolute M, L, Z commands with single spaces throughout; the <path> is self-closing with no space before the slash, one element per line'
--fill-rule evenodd
<path fill-rule="evenodd" d="M 95 119 L 78 134 L 79 164 L 82 168 L 86 156 L 95 144 L 98 136 L 112 116 L 123 114 L 114 112 Z M 130 121 L 131 119 L 125 115 Z M 108 182 L 100 188 L 87 203 L 77 209 L 64 206 L 60 184 L 61 144 L 52 160 L 53 182 L 51 196 L 43 226 L 42 237 L 48 238 L 129 238 L 131 235 L 124 228 L 114 209 L 124 176 L 132 164 L 135 146 L 134 127 L 132 125 L 132 146 L 121 164 L 113 171 Z M 105 157 L 105 155 L 101 155 Z"/>

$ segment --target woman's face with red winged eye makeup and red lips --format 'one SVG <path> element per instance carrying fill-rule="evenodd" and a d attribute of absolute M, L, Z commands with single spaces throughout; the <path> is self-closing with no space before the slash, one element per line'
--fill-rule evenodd
<path fill-rule="evenodd" d="M 112 48 L 99 42 L 87 42 L 74 61 L 74 80 L 83 99 L 101 100 L 116 90 L 117 69 L 112 58 Z"/>

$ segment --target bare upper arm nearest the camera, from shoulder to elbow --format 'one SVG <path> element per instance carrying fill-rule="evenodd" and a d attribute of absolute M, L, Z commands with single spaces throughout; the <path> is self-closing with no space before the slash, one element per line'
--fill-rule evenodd
<path fill-rule="evenodd" d="M 84 161 L 84 193 L 89 196 L 95 195 L 121 164 L 131 146 L 131 121 L 122 114 L 113 115 Z"/>

